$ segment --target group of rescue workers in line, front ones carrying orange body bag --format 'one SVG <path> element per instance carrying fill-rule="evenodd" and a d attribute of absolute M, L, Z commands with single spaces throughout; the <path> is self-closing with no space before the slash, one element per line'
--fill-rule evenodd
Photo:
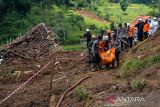
<path fill-rule="evenodd" d="M 160 24 L 158 20 L 159 19 L 155 17 L 149 17 L 145 20 L 139 18 L 135 25 L 124 23 L 123 26 L 120 23 L 117 30 L 102 30 L 97 36 L 92 35 L 91 31 L 86 29 L 84 37 L 87 38 L 89 63 L 93 65 L 96 70 L 101 69 L 102 65 L 109 69 L 117 67 L 119 65 L 121 52 L 127 52 L 128 48 L 136 45 L 137 41 L 142 42 L 152 33 L 156 32 Z M 114 54 L 114 56 L 112 56 L 112 54 Z M 114 58 L 111 59 L 111 57 Z M 107 58 L 110 59 L 109 63 L 103 61 L 103 59 L 105 60 Z"/>

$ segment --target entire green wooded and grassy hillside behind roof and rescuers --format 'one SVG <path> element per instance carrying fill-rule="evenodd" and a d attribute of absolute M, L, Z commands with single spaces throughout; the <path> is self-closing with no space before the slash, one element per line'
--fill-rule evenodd
<path fill-rule="evenodd" d="M 133 0 L 132 3 L 142 2 Z M 150 11 L 144 4 L 131 4 L 126 15 L 122 15 L 119 3 L 109 3 L 106 0 L 0 0 L 0 44 L 25 34 L 31 27 L 42 22 L 54 29 L 63 44 L 79 44 L 86 28 L 95 33 L 99 33 L 101 29 L 109 29 L 110 24 L 103 25 L 75 12 L 82 8 L 108 22 L 114 21 L 115 26 Z M 138 12 L 134 14 L 135 11 Z"/>

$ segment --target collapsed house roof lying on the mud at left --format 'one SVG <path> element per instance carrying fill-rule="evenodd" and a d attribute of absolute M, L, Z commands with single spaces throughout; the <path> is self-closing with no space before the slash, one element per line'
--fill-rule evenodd
<path fill-rule="evenodd" d="M 5 58 L 18 56 L 24 59 L 35 59 L 62 50 L 57 41 L 58 36 L 41 23 L 24 36 L 14 40 L 2 49 L 2 52 Z"/>

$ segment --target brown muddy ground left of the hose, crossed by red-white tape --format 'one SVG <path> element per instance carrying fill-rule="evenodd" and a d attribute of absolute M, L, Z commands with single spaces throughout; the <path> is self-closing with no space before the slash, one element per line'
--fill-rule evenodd
<path fill-rule="evenodd" d="M 56 56 L 56 61 L 53 61 L 38 76 L 11 96 L 2 106 L 49 106 L 52 94 L 56 95 L 58 100 L 60 95 L 74 84 L 80 75 L 90 72 L 91 68 L 80 54 L 81 52 L 58 52 L 35 61 L 22 61 L 21 59 L 6 61 L 0 66 L 0 101 Z M 59 64 L 55 66 L 57 62 Z M 22 71 L 20 75 L 18 75 L 19 71 Z"/>

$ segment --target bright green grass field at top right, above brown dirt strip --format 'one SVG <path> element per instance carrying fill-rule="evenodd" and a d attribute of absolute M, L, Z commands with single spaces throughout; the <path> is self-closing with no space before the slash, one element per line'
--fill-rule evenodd
<path fill-rule="evenodd" d="M 131 22 L 138 15 L 146 15 L 151 9 L 143 4 L 131 4 L 125 14 L 120 8 L 119 3 L 109 3 L 106 0 L 102 0 L 100 6 L 98 6 L 101 16 L 108 18 L 115 23 Z"/>

